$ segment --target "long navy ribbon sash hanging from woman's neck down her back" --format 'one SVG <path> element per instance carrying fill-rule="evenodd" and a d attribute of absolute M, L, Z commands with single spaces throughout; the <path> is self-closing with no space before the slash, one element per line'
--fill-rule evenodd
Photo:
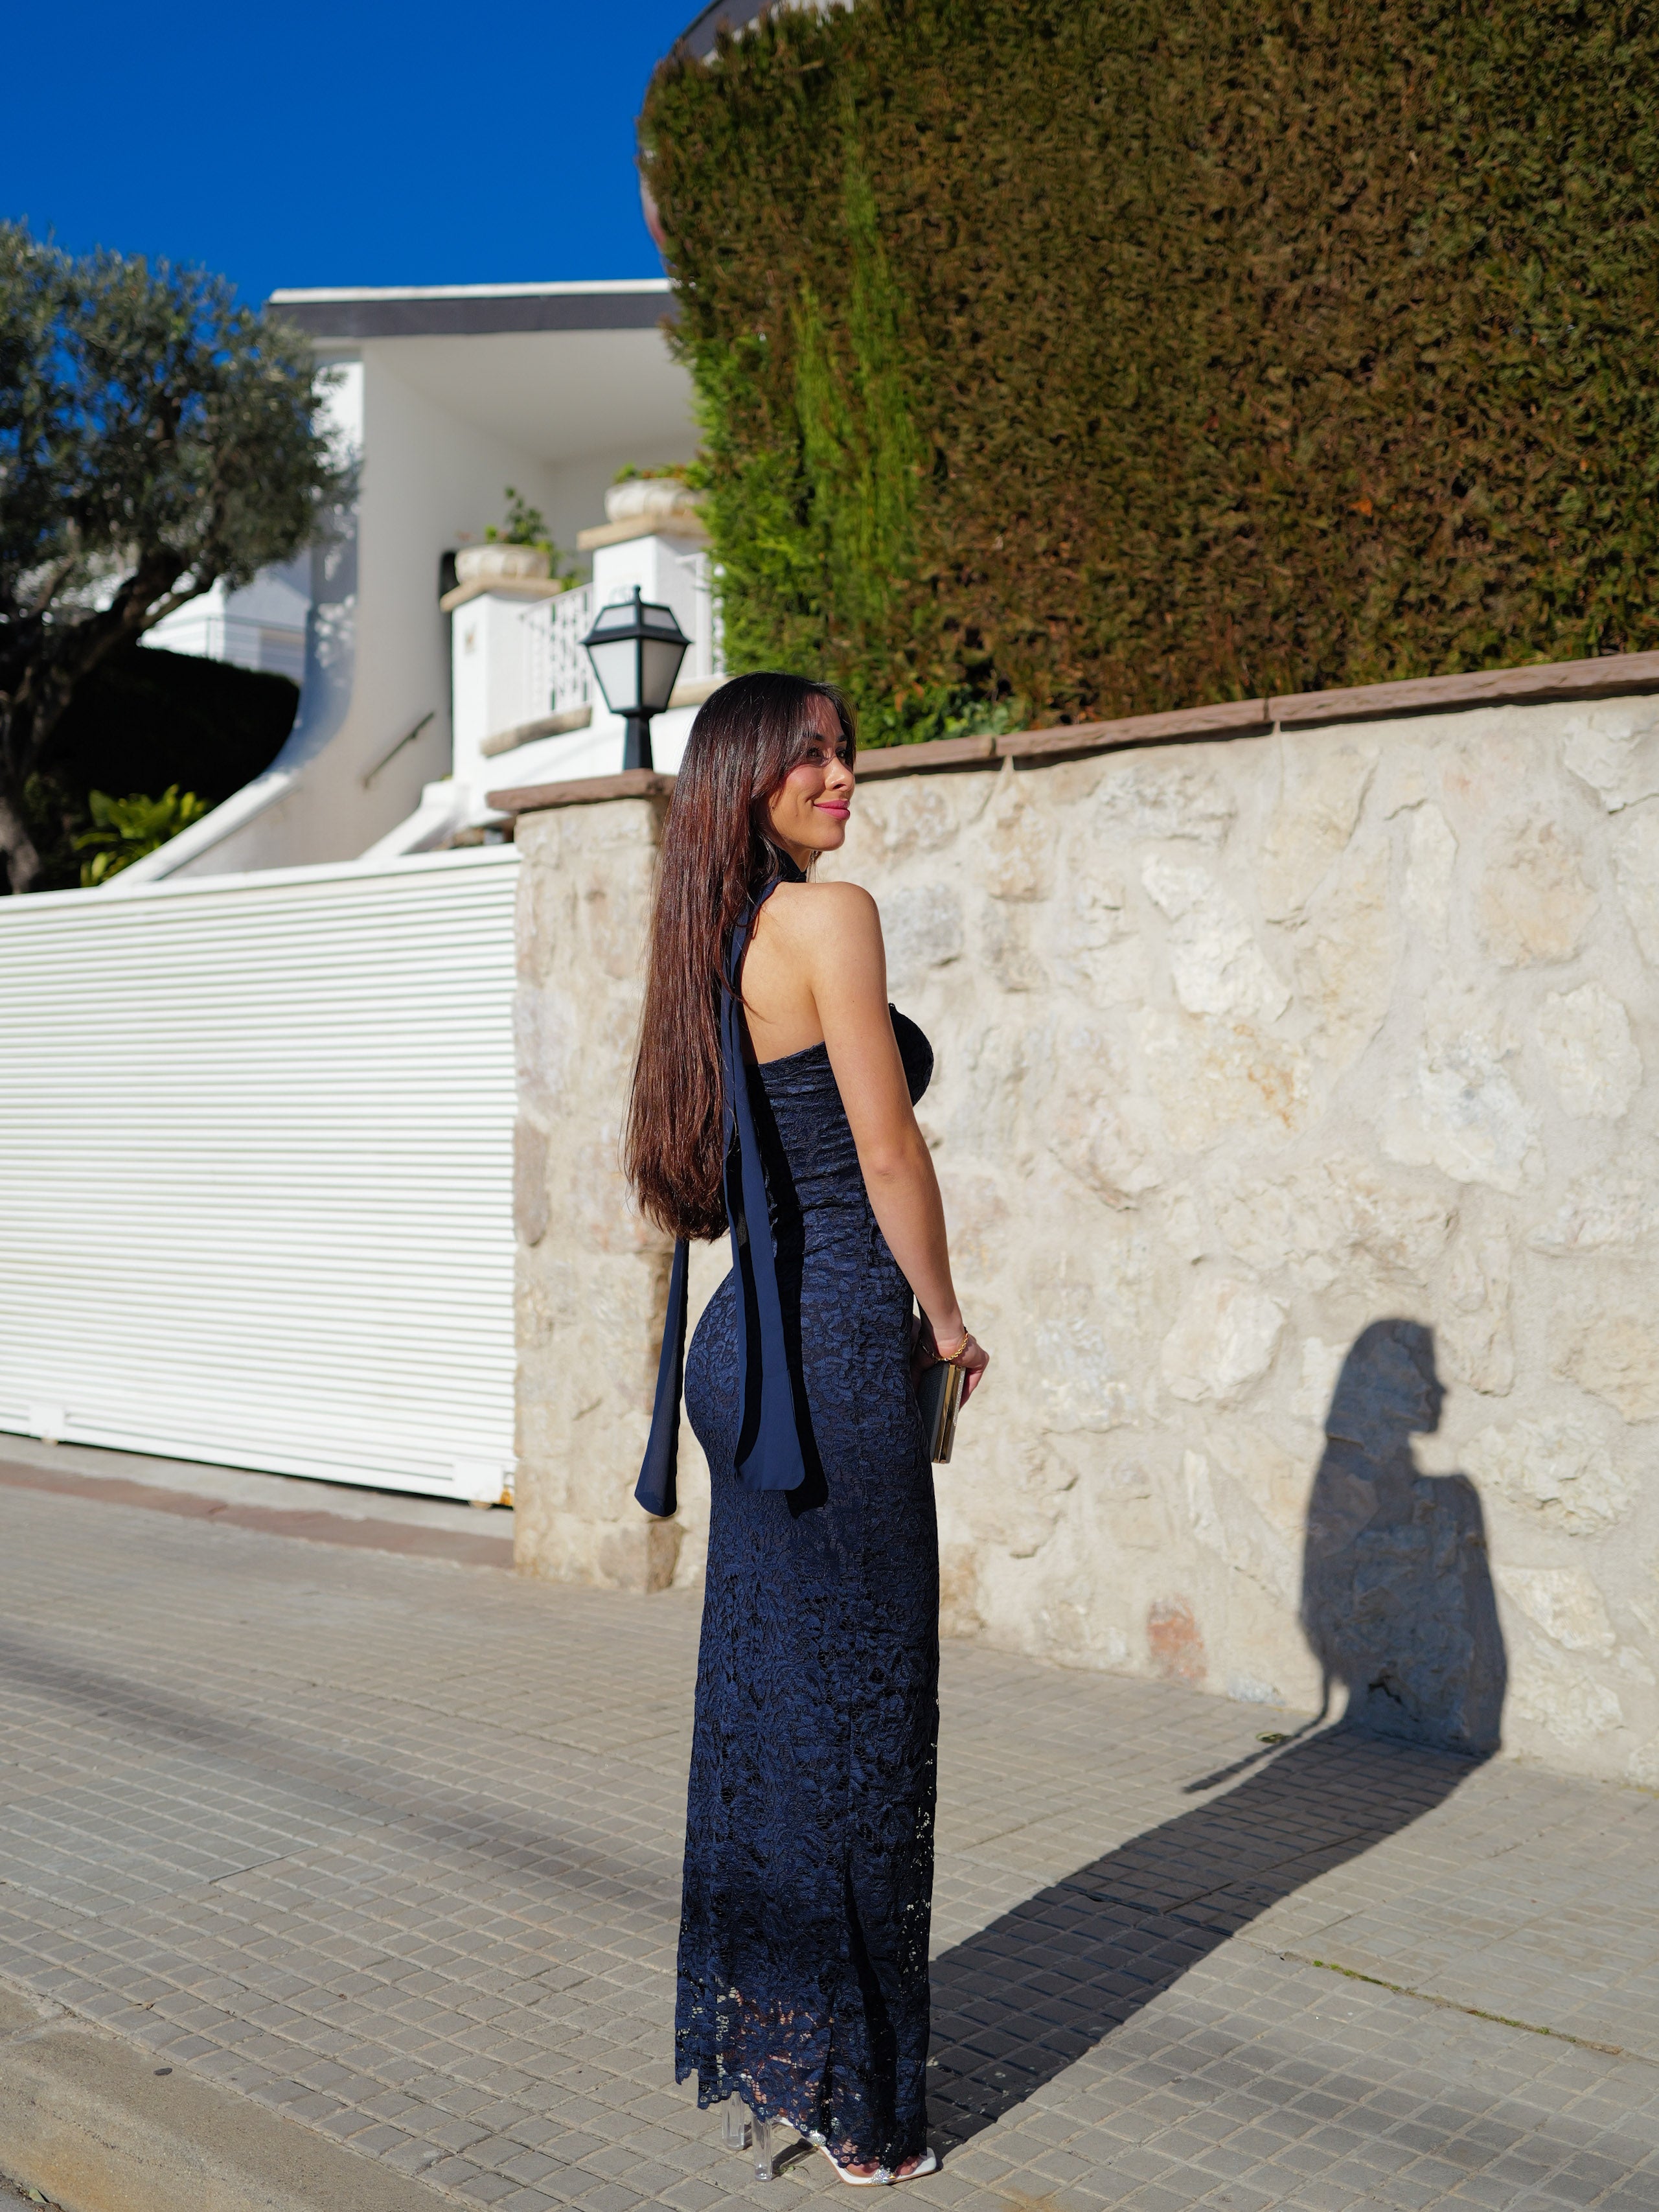
<path fill-rule="evenodd" d="M 743 1060 L 743 1000 L 739 978 L 743 951 L 754 929 L 754 916 L 781 880 L 805 880 L 779 854 L 781 874 L 754 894 L 732 931 L 726 953 L 726 991 L 721 993 L 721 1066 L 726 1088 L 726 1219 L 732 1230 L 732 1272 L 737 1274 L 739 1325 L 739 1402 L 743 1429 L 737 1473 L 748 1491 L 794 1491 L 807 1480 L 796 1425 L 794 1378 L 783 1332 L 783 1294 L 779 1290 L 776 1252 L 772 1248 L 772 1214 L 765 1188 L 765 1161 L 754 1128 L 750 1066 Z M 657 1360 L 657 1398 L 650 1409 L 650 1440 L 639 1467 L 635 1500 L 659 1517 L 677 1506 L 675 1475 L 679 1469 L 679 1391 L 686 1380 L 686 1274 L 690 1248 L 675 1243 L 675 1265 L 668 1274 L 668 1314 Z M 759 1389 L 757 1389 L 759 1385 Z M 754 1418 L 759 1416 L 759 1418 Z"/>

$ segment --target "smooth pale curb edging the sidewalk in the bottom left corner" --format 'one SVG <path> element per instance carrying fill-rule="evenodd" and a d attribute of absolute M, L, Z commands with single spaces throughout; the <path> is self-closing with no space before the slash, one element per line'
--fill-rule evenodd
<path fill-rule="evenodd" d="M 234 2090 L 0 1986 L 0 2172 L 62 2212 L 436 2212 L 447 2201 Z"/>

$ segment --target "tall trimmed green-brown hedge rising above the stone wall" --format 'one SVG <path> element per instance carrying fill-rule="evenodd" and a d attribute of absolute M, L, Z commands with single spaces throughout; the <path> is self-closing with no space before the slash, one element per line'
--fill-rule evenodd
<path fill-rule="evenodd" d="M 641 119 L 732 664 L 874 737 L 1659 646 L 1659 9 L 856 0 Z"/>

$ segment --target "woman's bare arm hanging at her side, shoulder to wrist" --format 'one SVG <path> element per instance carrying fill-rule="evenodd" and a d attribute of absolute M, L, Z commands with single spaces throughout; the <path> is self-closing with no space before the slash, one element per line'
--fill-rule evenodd
<path fill-rule="evenodd" d="M 933 1157 L 916 1126 L 887 1006 L 887 949 L 876 900 L 854 883 L 818 883 L 805 898 L 790 900 L 787 920 L 796 933 L 792 951 L 801 958 L 823 1022 L 872 1212 L 916 1292 L 933 1343 L 949 1352 L 967 1336 L 967 1325 L 951 1283 Z M 964 1391 L 971 1391 L 987 1367 L 987 1354 L 973 1338 L 960 1354 L 960 1367 Z"/>

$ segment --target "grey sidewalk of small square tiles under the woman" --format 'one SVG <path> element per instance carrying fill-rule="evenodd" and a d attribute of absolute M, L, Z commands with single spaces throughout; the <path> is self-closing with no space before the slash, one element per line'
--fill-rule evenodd
<path fill-rule="evenodd" d="M 0 1975 L 434 2203 L 834 2190 L 672 2084 L 695 1635 L 0 1486 Z M 1657 1798 L 962 1646 L 945 1712 L 911 2201 L 1659 2212 Z"/>

